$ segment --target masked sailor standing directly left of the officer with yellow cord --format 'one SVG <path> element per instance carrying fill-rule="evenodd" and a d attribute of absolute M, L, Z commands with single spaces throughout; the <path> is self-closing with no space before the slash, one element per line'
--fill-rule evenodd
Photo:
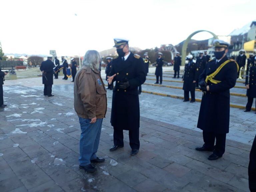
<path fill-rule="evenodd" d="M 189 101 L 189 92 L 191 95 L 190 103 L 196 101 L 195 90 L 196 90 L 196 79 L 197 79 L 197 67 L 193 62 L 193 55 L 187 56 L 188 63 L 185 65 L 184 75 L 182 76 L 183 90 L 184 90 L 184 102 Z"/>

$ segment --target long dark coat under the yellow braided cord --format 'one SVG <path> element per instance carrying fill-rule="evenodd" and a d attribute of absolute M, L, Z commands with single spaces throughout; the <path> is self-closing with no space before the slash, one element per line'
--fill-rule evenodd
<path fill-rule="evenodd" d="M 206 64 L 205 70 L 199 76 L 199 82 L 204 81 L 206 76 L 212 74 L 222 63 L 227 61 L 225 56 L 216 63 L 211 60 Z M 229 132 L 229 110 L 230 110 L 230 92 L 229 89 L 235 86 L 237 79 L 237 64 L 235 61 L 227 63 L 216 76 L 215 80 L 221 81 L 214 84 L 207 82 L 210 91 L 203 93 L 197 127 L 218 134 Z"/>

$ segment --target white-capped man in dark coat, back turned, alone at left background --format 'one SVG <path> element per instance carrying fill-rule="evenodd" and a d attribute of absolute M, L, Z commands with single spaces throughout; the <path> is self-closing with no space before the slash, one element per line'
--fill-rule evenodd
<path fill-rule="evenodd" d="M 46 61 L 43 61 L 40 66 L 42 71 L 42 78 L 44 84 L 44 96 L 52 97 L 52 85 L 53 85 L 53 68 L 52 56 L 48 56 Z"/>

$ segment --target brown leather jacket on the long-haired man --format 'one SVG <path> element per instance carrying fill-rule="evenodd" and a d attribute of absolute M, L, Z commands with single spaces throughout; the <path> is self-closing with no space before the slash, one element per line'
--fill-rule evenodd
<path fill-rule="evenodd" d="M 77 115 L 85 119 L 104 118 L 107 111 L 106 93 L 100 72 L 82 67 L 74 81 L 74 107 Z"/>

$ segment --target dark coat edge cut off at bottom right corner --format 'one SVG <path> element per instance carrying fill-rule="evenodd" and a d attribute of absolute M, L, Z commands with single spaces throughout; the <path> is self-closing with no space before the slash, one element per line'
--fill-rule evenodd
<path fill-rule="evenodd" d="M 251 192 L 256 191 L 256 135 L 253 140 L 252 149 L 250 152 L 250 162 L 248 167 L 249 188 Z"/>

